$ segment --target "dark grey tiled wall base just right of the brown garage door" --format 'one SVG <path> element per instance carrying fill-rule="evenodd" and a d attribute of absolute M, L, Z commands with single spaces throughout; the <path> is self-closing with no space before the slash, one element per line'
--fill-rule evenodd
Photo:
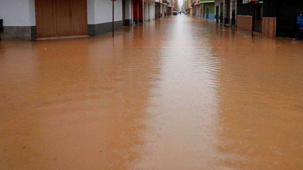
<path fill-rule="evenodd" d="M 106 22 L 101 24 L 88 24 L 88 35 L 96 36 L 112 31 L 112 22 Z M 122 29 L 122 21 L 114 22 L 114 30 Z"/>

